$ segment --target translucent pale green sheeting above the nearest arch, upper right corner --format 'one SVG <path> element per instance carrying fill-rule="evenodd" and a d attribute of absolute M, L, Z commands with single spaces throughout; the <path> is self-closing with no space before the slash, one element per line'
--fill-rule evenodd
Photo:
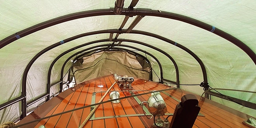
<path fill-rule="evenodd" d="M 158 0 L 156 2 L 147 2 L 140 0 L 136 7 L 173 12 L 206 22 L 235 36 L 252 48 L 254 52 L 256 51 L 256 47 L 254 47 L 255 43 L 253 43 L 254 40 L 256 40 L 256 36 L 254 36 L 256 29 L 256 23 L 254 22 L 256 20 L 255 0 L 213 0 L 211 2 L 207 0 L 193 0 L 193 2 L 181 2 L 178 0 Z M 162 20 L 154 21 L 152 19 L 150 19 L 150 21 L 155 23 L 157 22 L 157 24 L 164 22 Z M 142 22 L 147 24 L 145 21 Z M 147 25 L 150 26 L 149 24 Z M 164 25 L 171 25 L 175 27 L 175 25 L 170 22 Z M 161 30 L 170 36 L 173 34 L 169 31 L 163 31 L 162 29 L 155 28 L 154 30 Z M 185 32 L 191 31 L 187 29 Z"/>

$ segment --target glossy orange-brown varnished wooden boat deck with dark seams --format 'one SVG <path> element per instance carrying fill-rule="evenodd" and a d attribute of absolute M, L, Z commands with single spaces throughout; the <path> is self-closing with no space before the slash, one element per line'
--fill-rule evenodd
<path fill-rule="evenodd" d="M 79 84 L 75 91 L 71 89 L 59 94 L 53 99 L 49 100 L 42 106 L 38 107 L 34 112 L 22 119 L 18 125 L 40 119 L 53 114 L 69 111 L 79 107 L 87 106 L 93 103 L 99 102 L 101 97 L 107 91 L 107 89 L 114 83 L 113 76 L 106 76 L 98 80 L 86 81 Z M 103 85 L 99 87 L 98 85 Z M 111 91 L 119 91 L 120 97 L 130 96 L 134 94 L 140 94 L 149 92 L 147 90 L 163 90 L 171 88 L 160 83 L 152 81 L 146 81 L 136 79 L 133 81 L 132 91 L 121 91 L 117 84 L 111 89 Z M 143 90 L 143 91 L 142 91 Z M 110 93 L 110 92 L 109 92 Z M 188 92 L 180 90 L 168 90 L 164 93 L 161 92 L 161 96 L 166 102 L 168 112 L 173 113 L 177 100 L 180 100 L 182 95 Z M 107 102 L 101 104 L 94 115 L 86 123 L 84 128 L 150 128 L 153 124 L 153 119 L 147 119 L 142 116 L 143 110 L 139 102 L 147 101 L 151 94 L 141 95 L 138 97 L 132 97 L 121 100 L 120 103 L 114 104 Z M 109 94 L 104 98 L 103 101 L 109 99 Z M 249 128 L 242 124 L 242 121 L 246 120 L 240 116 L 237 116 L 237 111 L 229 109 L 230 112 L 221 109 L 218 103 L 205 99 L 199 103 L 201 110 L 201 116 L 197 116 L 193 128 Z M 46 128 L 78 128 L 83 121 L 86 119 L 93 107 L 87 107 L 84 109 L 68 112 L 52 118 L 43 119 L 29 125 L 21 126 L 21 128 L 38 128 L 44 125 Z M 235 112 L 232 113 L 232 112 Z M 241 114 L 241 113 L 240 113 Z M 166 118 L 167 116 L 164 116 Z M 162 117 L 163 118 L 163 117 Z M 172 116 L 168 118 L 171 121 Z"/>

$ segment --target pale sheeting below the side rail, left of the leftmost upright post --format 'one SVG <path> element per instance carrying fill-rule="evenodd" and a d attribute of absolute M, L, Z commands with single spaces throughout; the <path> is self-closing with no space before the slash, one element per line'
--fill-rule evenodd
<path fill-rule="evenodd" d="M 19 119 L 21 115 L 20 104 L 21 102 L 17 102 L 9 107 L 6 107 L 5 109 L 0 110 L 0 125 L 7 121 L 12 122 Z"/>

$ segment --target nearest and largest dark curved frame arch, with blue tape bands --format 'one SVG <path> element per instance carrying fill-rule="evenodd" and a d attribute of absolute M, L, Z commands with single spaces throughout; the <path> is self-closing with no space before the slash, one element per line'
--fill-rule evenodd
<path fill-rule="evenodd" d="M 76 12 L 76 13 L 67 14 L 67 15 L 64 15 L 61 17 L 57 17 L 57 18 L 50 19 L 48 21 L 36 24 L 34 26 L 23 29 L 22 31 L 19 31 L 19 32 L 15 33 L 13 35 L 10 35 L 10 36 L 4 38 L 3 40 L 1 40 L 0 41 L 0 49 L 2 47 L 5 47 L 9 43 L 14 42 L 15 40 L 17 40 L 19 38 L 27 36 L 31 33 L 39 31 L 41 29 L 48 28 L 50 26 L 60 24 L 62 22 L 66 22 L 66 21 L 71 21 L 74 19 L 91 17 L 91 16 L 102 16 L 102 15 L 115 15 L 114 8 Z M 130 10 L 129 8 L 123 8 L 120 15 L 125 15 L 125 16 L 130 16 L 130 17 L 137 16 L 137 15 L 164 17 L 164 18 L 175 19 L 178 21 L 186 22 L 188 24 L 192 24 L 194 26 L 197 26 L 199 28 L 210 31 L 210 32 L 230 41 L 237 47 L 241 48 L 253 60 L 254 64 L 256 64 L 256 54 L 253 52 L 253 50 L 251 50 L 251 48 L 249 48 L 242 41 L 240 41 L 239 39 L 235 38 L 234 36 L 224 32 L 218 28 L 215 28 L 214 26 L 211 26 L 202 21 L 193 19 L 191 17 L 187 17 L 187 16 L 183 16 L 183 15 L 175 14 L 175 13 L 171 13 L 171 12 L 166 12 L 166 11 L 159 11 L 159 10 L 152 10 L 152 9 L 140 9 L 140 8 L 138 8 L 138 9 L 134 8 L 132 10 Z"/>

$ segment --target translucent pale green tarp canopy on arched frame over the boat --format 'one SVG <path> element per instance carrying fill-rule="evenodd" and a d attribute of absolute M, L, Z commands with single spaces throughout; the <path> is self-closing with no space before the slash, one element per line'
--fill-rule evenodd
<path fill-rule="evenodd" d="M 0 124 L 61 92 L 76 57 L 102 49 L 135 52 L 153 81 L 198 95 L 208 85 L 256 92 L 255 8 L 255 0 L 1 0 Z M 255 93 L 220 92 L 256 103 Z"/>

